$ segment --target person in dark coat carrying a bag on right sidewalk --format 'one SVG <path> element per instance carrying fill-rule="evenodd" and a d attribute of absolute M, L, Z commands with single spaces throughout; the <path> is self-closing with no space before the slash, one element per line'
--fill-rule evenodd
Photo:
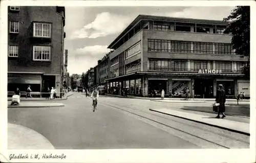
<path fill-rule="evenodd" d="M 219 110 L 218 110 L 218 115 L 216 118 L 220 118 L 220 113 L 222 114 L 222 118 L 225 118 L 225 102 L 226 102 L 226 94 L 225 94 L 225 90 L 222 84 L 218 85 L 218 89 L 217 89 L 217 94 L 216 94 L 216 103 L 219 103 Z"/>

